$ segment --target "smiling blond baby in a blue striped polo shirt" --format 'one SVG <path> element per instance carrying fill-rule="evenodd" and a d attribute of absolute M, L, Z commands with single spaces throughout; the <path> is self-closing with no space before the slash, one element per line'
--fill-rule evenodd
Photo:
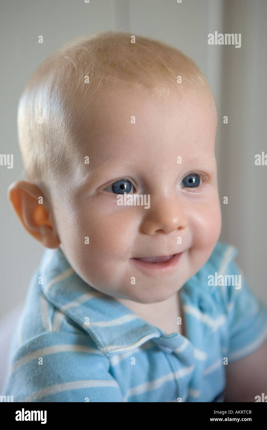
<path fill-rule="evenodd" d="M 234 263 L 237 249 L 218 241 L 216 129 L 201 71 L 162 43 L 108 31 L 41 64 L 18 106 L 28 181 L 8 195 L 47 249 L 4 394 L 15 402 L 267 394 L 267 310 Z"/>

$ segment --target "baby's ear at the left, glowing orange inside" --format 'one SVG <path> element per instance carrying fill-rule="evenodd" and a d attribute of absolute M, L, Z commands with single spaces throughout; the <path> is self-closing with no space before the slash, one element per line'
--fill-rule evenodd
<path fill-rule="evenodd" d="M 60 246 L 50 204 L 40 188 L 27 181 L 13 182 L 8 188 L 8 199 L 28 233 L 46 248 Z"/>

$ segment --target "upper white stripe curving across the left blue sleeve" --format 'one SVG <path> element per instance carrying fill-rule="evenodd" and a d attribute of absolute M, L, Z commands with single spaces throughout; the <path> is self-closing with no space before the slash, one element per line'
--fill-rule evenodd
<path fill-rule="evenodd" d="M 45 355 L 54 354 L 57 352 L 86 352 L 90 354 L 99 354 L 102 355 L 102 352 L 96 348 L 89 348 L 83 345 L 72 345 L 72 344 L 63 344 L 63 345 L 52 345 L 51 347 L 45 347 L 34 351 L 30 354 L 24 355 L 20 359 L 14 362 L 12 365 L 12 373 L 15 372 L 20 366 L 27 364 L 31 360 L 38 359 L 39 357 L 43 357 Z"/>

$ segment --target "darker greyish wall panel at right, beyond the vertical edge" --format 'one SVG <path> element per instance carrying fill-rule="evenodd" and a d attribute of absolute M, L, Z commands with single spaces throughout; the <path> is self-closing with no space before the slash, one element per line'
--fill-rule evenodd
<path fill-rule="evenodd" d="M 221 239 L 238 246 L 237 261 L 267 303 L 267 166 L 255 166 L 255 154 L 267 154 L 267 2 L 227 0 L 224 10 L 222 32 L 241 33 L 242 43 L 222 46 L 220 103 L 228 124 L 220 128 L 219 180 L 228 205 Z"/>

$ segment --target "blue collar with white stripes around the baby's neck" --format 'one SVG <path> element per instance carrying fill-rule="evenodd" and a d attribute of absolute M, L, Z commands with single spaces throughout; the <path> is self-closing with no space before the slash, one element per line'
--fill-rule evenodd
<path fill-rule="evenodd" d="M 204 267 L 182 287 L 183 297 L 187 295 L 189 299 L 195 299 L 201 295 L 210 302 L 216 286 L 207 286 L 207 273 L 214 272 L 214 261 L 218 267 L 223 267 L 236 254 L 237 249 L 233 246 L 217 243 Z M 48 301 L 89 333 L 107 356 L 133 350 L 152 338 L 174 336 L 165 335 L 114 298 L 84 282 L 60 248 L 45 250 L 39 274 L 42 292 Z"/>

